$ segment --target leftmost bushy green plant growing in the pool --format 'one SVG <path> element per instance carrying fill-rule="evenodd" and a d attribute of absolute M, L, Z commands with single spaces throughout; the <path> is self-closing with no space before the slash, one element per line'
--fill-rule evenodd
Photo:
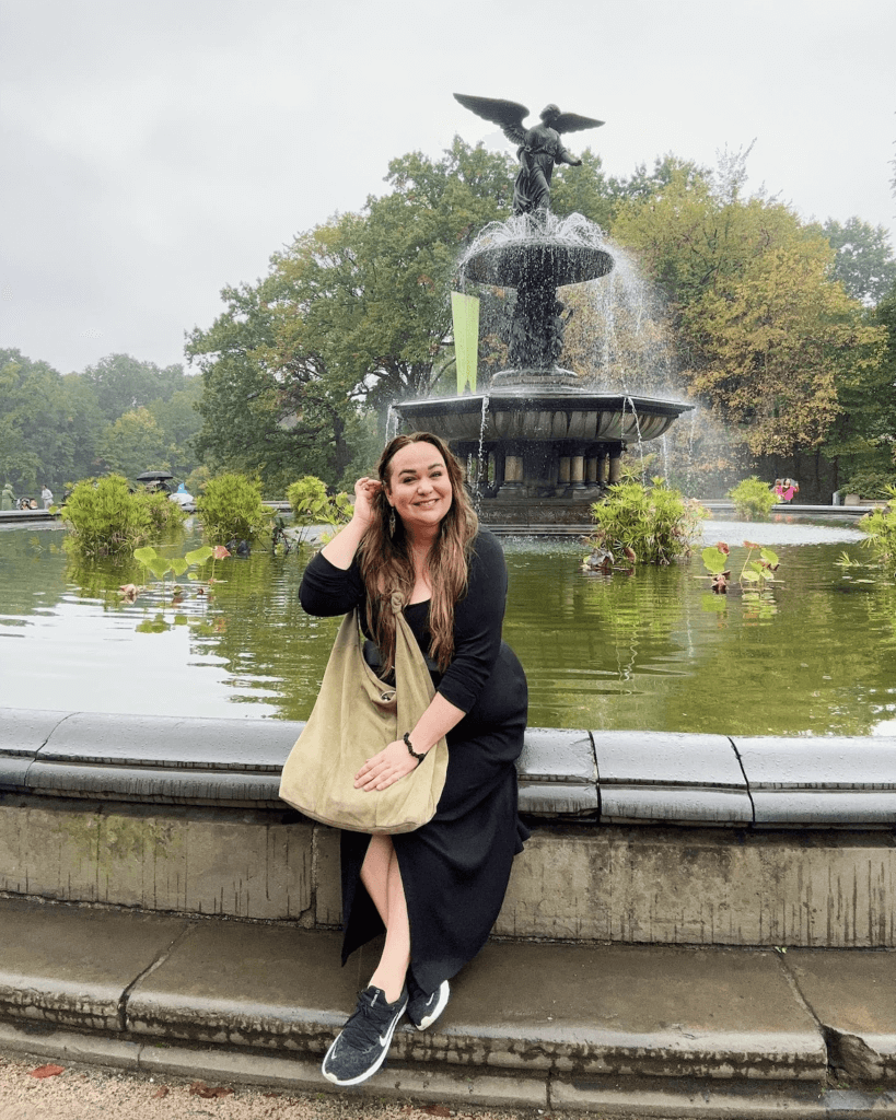
<path fill-rule="evenodd" d="M 77 483 L 62 515 L 71 526 L 63 548 L 81 559 L 106 556 L 130 559 L 152 528 L 143 495 L 132 494 L 121 475 Z"/>

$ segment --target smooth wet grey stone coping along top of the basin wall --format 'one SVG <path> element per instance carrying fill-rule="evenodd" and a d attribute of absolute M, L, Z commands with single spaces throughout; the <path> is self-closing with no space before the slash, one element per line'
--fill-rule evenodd
<path fill-rule="evenodd" d="M 0 709 L 0 794 L 283 811 L 305 725 Z M 530 728 L 523 813 L 596 824 L 896 828 L 896 737 Z"/>

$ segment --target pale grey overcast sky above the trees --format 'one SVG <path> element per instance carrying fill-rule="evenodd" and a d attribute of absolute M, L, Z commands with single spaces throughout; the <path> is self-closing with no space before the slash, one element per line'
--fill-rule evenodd
<path fill-rule="evenodd" d="M 224 284 L 494 127 L 606 124 L 613 175 L 746 147 L 748 189 L 896 230 L 894 0 L 0 0 L 0 346 L 62 373 L 184 361 Z M 512 150 L 507 144 L 507 150 Z"/>

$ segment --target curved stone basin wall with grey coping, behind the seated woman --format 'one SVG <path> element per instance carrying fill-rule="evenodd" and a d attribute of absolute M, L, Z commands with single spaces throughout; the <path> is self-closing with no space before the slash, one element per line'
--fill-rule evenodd
<path fill-rule="evenodd" d="M 337 928 L 338 834 L 277 800 L 300 725 L 2 710 L 0 892 Z M 516 941 L 896 946 L 896 748 L 532 729 Z"/>

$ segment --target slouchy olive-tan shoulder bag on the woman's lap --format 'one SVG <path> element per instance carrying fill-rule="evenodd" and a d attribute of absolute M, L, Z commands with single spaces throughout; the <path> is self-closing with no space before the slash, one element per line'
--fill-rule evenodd
<path fill-rule="evenodd" d="M 448 772 L 444 738 L 388 790 L 366 793 L 354 785 L 366 759 L 410 731 L 436 691 L 402 605 L 395 592 L 394 688 L 364 660 L 357 612 L 352 610 L 339 626 L 314 710 L 283 766 L 282 800 L 324 824 L 354 832 L 410 832 L 436 813 Z"/>

